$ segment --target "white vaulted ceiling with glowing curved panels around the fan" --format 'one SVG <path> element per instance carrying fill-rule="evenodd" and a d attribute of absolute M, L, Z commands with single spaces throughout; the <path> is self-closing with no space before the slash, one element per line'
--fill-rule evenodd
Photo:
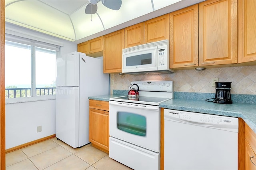
<path fill-rule="evenodd" d="M 6 22 L 82 42 L 88 36 L 128 21 L 135 24 L 147 19 L 136 20 L 141 16 L 151 14 L 149 17 L 154 18 L 199 1 L 202 0 L 122 0 L 120 10 L 111 10 L 99 2 L 96 14 L 90 15 L 85 14 L 88 0 L 5 0 L 5 16 Z M 166 6 L 169 9 L 162 11 Z"/>

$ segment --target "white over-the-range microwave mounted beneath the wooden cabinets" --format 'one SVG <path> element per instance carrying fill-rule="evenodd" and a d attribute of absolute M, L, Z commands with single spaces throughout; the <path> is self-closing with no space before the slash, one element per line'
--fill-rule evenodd
<path fill-rule="evenodd" d="M 169 40 L 122 50 L 122 72 L 126 74 L 173 73 L 169 68 Z"/>

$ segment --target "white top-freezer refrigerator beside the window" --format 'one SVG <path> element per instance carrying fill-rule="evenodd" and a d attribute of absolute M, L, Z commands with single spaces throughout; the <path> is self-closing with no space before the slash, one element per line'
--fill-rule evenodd
<path fill-rule="evenodd" d="M 77 148 L 89 143 L 88 96 L 106 95 L 103 60 L 72 52 L 56 60 L 56 137 Z"/>

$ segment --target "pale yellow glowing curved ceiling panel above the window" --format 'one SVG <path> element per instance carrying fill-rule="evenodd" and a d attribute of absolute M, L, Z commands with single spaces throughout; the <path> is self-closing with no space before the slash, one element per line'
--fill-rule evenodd
<path fill-rule="evenodd" d="M 75 40 L 74 29 L 69 16 L 40 1 L 15 2 L 7 6 L 5 12 L 6 19 L 13 24 Z"/>

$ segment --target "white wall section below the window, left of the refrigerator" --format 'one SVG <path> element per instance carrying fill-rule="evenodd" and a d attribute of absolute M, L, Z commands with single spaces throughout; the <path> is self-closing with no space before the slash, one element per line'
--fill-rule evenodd
<path fill-rule="evenodd" d="M 5 109 L 6 149 L 55 134 L 55 100 L 6 104 Z"/>

